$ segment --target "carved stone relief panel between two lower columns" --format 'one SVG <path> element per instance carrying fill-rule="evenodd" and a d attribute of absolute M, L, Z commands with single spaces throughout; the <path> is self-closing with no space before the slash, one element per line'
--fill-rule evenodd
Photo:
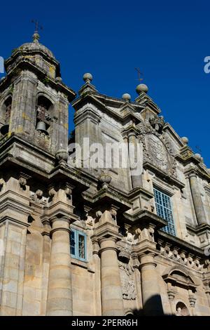
<path fill-rule="evenodd" d="M 122 283 L 123 299 L 131 301 L 137 298 L 134 284 L 134 269 L 125 263 L 119 263 L 120 278 Z"/>

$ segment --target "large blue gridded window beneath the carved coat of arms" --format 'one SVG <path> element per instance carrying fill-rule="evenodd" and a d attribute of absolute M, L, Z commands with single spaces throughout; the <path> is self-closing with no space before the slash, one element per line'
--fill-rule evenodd
<path fill-rule="evenodd" d="M 176 236 L 171 198 L 157 188 L 154 188 L 154 194 L 157 214 L 161 218 L 167 220 L 168 223 L 167 226 L 162 228 L 162 230 L 171 235 Z"/>

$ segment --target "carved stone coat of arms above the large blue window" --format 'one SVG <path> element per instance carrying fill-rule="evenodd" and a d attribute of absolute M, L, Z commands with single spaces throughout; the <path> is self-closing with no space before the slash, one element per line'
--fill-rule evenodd
<path fill-rule="evenodd" d="M 176 178 L 176 160 L 174 151 L 167 133 L 162 131 L 163 117 L 155 117 L 138 125 L 141 133 L 139 140 L 143 145 L 144 161 L 154 164 L 158 169 L 165 171 L 169 176 Z"/>

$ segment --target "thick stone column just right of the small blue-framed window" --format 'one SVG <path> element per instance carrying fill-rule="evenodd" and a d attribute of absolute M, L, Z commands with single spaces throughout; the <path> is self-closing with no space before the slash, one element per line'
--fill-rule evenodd
<path fill-rule="evenodd" d="M 116 237 L 99 239 L 101 253 L 102 315 L 125 315 Z"/>

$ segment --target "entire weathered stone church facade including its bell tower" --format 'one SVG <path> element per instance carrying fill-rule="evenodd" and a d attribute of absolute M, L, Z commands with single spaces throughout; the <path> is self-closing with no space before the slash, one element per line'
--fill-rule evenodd
<path fill-rule="evenodd" d="M 37 32 L 5 67 L 0 315 L 210 315 L 210 169 L 147 86 L 76 97 Z"/>

